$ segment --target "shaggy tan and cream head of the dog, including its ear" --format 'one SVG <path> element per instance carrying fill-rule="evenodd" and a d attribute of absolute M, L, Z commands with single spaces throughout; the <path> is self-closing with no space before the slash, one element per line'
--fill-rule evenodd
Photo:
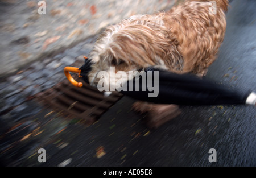
<path fill-rule="evenodd" d="M 157 18 L 160 17 L 156 16 L 152 20 L 145 16 L 144 20 L 132 22 L 128 19 L 107 27 L 90 53 L 93 63 L 88 73 L 90 85 L 97 86 L 101 71 L 109 74 L 109 80 L 104 78 L 105 82 L 117 82 L 118 77 L 114 73 L 118 71 L 124 71 L 129 76 L 129 71 L 138 71 L 152 65 L 167 68 L 177 49 L 175 39 L 165 30 L 162 21 L 156 22 Z"/>

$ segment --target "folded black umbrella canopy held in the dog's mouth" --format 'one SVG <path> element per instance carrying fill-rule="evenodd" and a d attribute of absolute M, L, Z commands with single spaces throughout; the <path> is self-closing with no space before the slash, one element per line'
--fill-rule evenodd
<path fill-rule="evenodd" d="M 85 57 L 85 64 L 79 68 L 80 76 L 88 83 L 92 62 Z M 192 74 L 176 74 L 154 67 L 143 70 L 122 85 L 122 94 L 141 101 L 157 104 L 177 105 L 241 105 L 256 104 L 254 92 L 241 93 L 216 82 L 200 79 Z M 146 76 L 146 77 L 145 77 Z M 150 78 L 150 79 L 149 79 Z M 145 86 L 146 85 L 146 86 Z"/>

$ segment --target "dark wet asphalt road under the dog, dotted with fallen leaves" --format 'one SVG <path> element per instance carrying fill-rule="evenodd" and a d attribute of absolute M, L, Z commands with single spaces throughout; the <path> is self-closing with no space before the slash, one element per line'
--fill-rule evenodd
<path fill-rule="evenodd" d="M 253 0 L 232 1 L 224 43 L 206 76 L 242 92 L 256 90 L 255 7 Z M 179 117 L 150 130 L 144 125 L 143 116 L 131 110 L 133 102 L 131 98 L 121 98 L 98 122 L 86 127 L 76 124 L 76 119 L 70 121 L 51 113 L 50 108 L 39 108 L 32 100 L 28 105 L 35 114 L 20 126 L 23 133 L 13 131 L 4 139 L 12 142 L 19 135 L 24 139 L 38 126 L 43 132 L 17 142 L 7 150 L 9 154 L 3 156 L 1 164 L 256 166 L 254 106 L 186 106 Z M 38 148 L 46 150 L 46 163 L 38 162 Z M 210 148 L 217 151 L 216 163 L 208 161 Z"/>

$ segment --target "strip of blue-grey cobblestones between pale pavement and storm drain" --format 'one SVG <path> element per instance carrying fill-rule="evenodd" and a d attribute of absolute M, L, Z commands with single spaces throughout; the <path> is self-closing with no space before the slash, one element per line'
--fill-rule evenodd
<path fill-rule="evenodd" d="M 64 67 L 75 61 L 84 61 L 83 56 L 88 54 L 95 40 L 96 36 L 89 38 L 52 58 L 35 61 L 20 69 L 15 75 L 5 78 L 0 84 L 0 113 L 23 104 L 36 93 L 43 92 L 64 80 Z"/>

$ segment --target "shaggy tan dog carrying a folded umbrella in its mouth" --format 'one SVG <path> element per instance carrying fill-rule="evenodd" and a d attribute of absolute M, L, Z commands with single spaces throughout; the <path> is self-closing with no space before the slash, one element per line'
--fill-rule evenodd
<path fill-rule="evenodd" d="M 106 27 L 89 55 L 90 85 L 97 86 L 98 72 L 110 73 L 110 67 L 128 73 L 154 66 L 203 77 L 217 57 L 226 30 L 228 0 L 214 2 L 215 6 L 209 1 L 189 0 L 167 12 L 134 15 Z M 159 127 L 180 114 L 177 105 L 142 101 L 135 102 L 133 109 L 148 114 L 150 127 Z"/>

